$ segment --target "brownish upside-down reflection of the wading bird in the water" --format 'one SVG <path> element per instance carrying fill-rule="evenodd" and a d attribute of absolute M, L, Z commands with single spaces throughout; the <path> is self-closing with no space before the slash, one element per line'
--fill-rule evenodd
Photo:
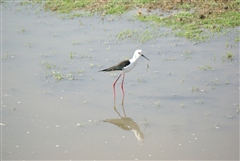
<path fill-rule="evenodd" d="M 120 127 L 123 130 L 133 131 L 137 140 L 143 141 L 144 135 L 143 135 L 141 129 L 139 128 L 138 124 L 135 121 L 133 121 L 130 117 L 126 116 L 126 112 L 124 109 L 124 96 L 122 98 L 123 116 L 118 112 L 116 105 L 115 105 L 115 100 L 114 100 L 114 110 L 117 112 L 117 114 L 119 115 L 120 118 L 105 119 L 105 120 L 103 120 L 103 122 L 109 122 L 113 125 Z"/>

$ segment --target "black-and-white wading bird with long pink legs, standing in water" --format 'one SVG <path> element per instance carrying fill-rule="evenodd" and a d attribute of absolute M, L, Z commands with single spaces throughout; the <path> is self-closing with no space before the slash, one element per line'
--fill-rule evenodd
<path fill-rule="evenodd" d="M 138 49 L 134 52 L 133 57 L 131 59 L 124 60 L 124 61 L 122 61 L 122 62 L 120 62 L 120 63 L 118 63 L 118 64 L 116 64 L 112 67 L 109 67 L 107 69 L 103 69 L 103 70 L 99 71 L 99 72 L 122 71 L 122 73 L 118 76 L 116 81 L 113 83 L 114 98 L 116 97 L 115 84 L 117 83 L 117 81 L 121 77 L 121 75 L 123 75 L 121 89 L 122 89 L 122 93 L 124 95 L 123 82 L 124 82 L 125 73 L 130 72 L 137 65 L 137 60 L 140 56 L 149 60 L 146 56 L 144 56 L 142 54 L 142 50 Z"/>

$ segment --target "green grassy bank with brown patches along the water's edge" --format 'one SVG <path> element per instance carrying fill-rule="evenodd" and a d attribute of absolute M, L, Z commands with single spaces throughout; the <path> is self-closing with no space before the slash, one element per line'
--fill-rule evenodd
<path fill-rule="evenodd" d="M 215 33 L 225 33 L 228 28 L 240 26 L 240 0 L 36 0 L 35 2 L 44 3 L 46 10 L 64 14 L 84 10 L 105 16 L 136 10 L 134 15 L 136 19 L 167 26 L 176 36 L 193 41 L 205 41 Z M 72 14 L 71 17 L 74 16 L 79 15 Z"/>

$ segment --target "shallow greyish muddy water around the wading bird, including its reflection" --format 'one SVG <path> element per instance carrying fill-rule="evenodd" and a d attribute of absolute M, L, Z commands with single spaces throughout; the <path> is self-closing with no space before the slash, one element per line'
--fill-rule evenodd
<path fill-rule="evenodd" d="M 239 159 L 235 30 L 141 44 L 117 39 L 148 29 L 131 13 L 63 20 L 42 10 L 2 4 L 2 159 Z M 123 105 L 119 81 L 114 109 L 119 73 L 98 71 L 138 48 L 150 61 L 126 74 Z"/>

